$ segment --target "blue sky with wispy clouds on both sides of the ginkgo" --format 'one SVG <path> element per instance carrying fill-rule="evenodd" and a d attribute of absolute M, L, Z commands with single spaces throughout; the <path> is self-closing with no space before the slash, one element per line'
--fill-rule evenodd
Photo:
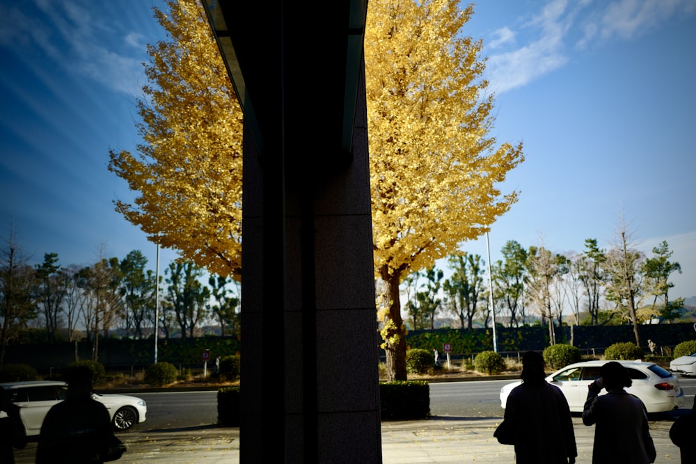
<path fill-rule="evenodd" d="M 113 210 L 134 195 L 106 170 L 109 148 L 139 142 L 145 44 L 162 37 L 152 6 L 164 2 L 0 0 L 0 237 L 14 225 L 34 262 L 90 264 L 103 246 L 154 268 L 155 246 Z M 464 33 L 484 42 L 493 136 L 525 144 L 493 260 L 508 240 L 610 248 L 623 211 L 638 248 L 674 251 L 670 296 L 695 296 L 696 0 L 487 0 Z M 462 248 L 485 258 L 485 243 Z"/>

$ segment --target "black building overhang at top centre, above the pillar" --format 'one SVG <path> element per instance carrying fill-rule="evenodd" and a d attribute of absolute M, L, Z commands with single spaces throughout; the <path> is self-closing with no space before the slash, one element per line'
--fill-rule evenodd
<path fill-rule="evenodd" d="M 308 115 L 326 156 L 350 157 L 367 0 L 203 5 L 260 154 Z"/>

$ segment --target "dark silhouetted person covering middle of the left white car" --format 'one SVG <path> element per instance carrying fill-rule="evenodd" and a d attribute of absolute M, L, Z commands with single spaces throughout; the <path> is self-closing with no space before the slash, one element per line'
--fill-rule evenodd
<path fill-rule="evenodd" d="M 72 369 L 65 401 L 49 410 L 41 426 L 36 463 L 102 463 L 114 442 L 119 440 L 113 435 L 109 411 L 92 399 L 92 371 Z"/>

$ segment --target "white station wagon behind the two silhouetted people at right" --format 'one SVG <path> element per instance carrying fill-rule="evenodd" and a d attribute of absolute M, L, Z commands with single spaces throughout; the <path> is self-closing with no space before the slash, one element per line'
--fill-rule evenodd
<path fill-rule="evenodd" d="M 546 377 L 546 381 L 561 389 L 572 413 L 582 413 L 587 400 L 587 385 L 599 378 L 599 368 L 608 361 L 585 361 L 571 364 Z M 633 380 L 626 392 L 635 395 L 648 413 L 663 413 L 683 406 L 684 392 L 679 380 L 670 371 L 652 362 L 619 361 Z M 500 389 L 500 406 L 505 408 L 507 395 L 522 381 L 509 383 Z M 606 394 L 602 390 L 601 394 Z"/>

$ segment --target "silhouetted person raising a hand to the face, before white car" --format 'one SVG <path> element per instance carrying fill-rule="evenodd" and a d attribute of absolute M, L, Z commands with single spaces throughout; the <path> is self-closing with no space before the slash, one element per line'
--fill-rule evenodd
<path fill-rule="evenodd" d="M 648 464 L 656 458 L 647 412 L 640 399 L 628 394 L 628 371 L 616 361 L 603 365 L 601 378 L 588 386 L 583 424 L 594 427 L 593 464 Z M 599 396 L 602 388 L 607 394 Z"/>

